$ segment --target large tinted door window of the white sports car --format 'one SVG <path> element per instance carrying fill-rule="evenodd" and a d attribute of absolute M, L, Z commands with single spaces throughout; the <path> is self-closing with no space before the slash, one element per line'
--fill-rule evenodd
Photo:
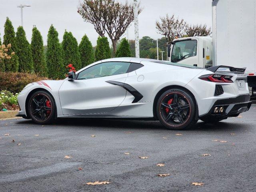
<path fill-rule="evenodd" d="M 127 73 L 129 62 L 104 62 L 91 66 L 78 74 L 77 79 L 93 79 Z"/>

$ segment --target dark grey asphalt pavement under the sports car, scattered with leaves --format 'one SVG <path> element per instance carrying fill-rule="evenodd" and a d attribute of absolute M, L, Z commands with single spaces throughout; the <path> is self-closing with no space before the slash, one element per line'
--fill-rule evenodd
<path fill-rule="evenodd" d="M 86 184 L 95 181 L 110 183 Z M 152 121 L 0 120 L 0 191 L 255 192 L 256 105 L 185 131 Z"/>

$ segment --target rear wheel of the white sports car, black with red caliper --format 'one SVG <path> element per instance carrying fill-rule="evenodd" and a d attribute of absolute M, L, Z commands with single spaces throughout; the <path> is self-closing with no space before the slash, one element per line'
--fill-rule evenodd
<path fill-rule="evenodd" d="M 196 124 L 196 100 L 180 88 L 167 90 L 158 98 L 156 114 L 159 121 L 170 130 L 184 130 Z"/>

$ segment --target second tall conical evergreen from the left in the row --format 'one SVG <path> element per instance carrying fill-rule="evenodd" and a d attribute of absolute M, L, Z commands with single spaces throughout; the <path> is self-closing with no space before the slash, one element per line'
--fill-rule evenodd
<path fill-rule="evenodd" d="M 30 49 L 30 44 L 26 39 L 26 33 L 22 26 L 17 28 L 16 32 L 16 43 L 17 43 L 17 52 L 19 58 L 19 72 L 33 72 L 33 58 L 32 52 Z"/>

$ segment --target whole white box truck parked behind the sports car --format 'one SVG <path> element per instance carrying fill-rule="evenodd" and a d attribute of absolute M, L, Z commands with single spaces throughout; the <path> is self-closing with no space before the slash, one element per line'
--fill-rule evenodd
<path fill-rule="evenodd" d="M 256 97 L 256 0 L 213 0 L 212 38 L 175 39 L 168 44 L 168 60 L 201 68 L 246 68 L 250 95 Z"/>

